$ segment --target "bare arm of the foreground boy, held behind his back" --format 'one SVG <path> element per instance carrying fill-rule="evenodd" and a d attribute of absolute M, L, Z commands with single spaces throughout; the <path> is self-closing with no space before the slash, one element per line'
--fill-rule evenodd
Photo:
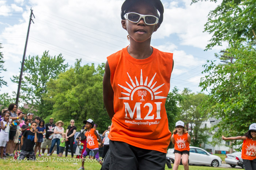
<path fill-rule="evenodd" d="M 114 112 L 114 91 L 110 83 L 110 68 L 108 61 L 105 65 L 105 74 L 103 76 L 103 102 L 108 112 L 109 118 L 112 120 Z"/>

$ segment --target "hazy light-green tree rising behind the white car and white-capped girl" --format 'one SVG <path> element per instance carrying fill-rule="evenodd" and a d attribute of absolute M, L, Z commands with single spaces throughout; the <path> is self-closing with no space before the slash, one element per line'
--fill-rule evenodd
<path fill-rule="evenodd" d="M 201 112 L 201 104 L 205 94 L 191 93 L 191 90 L 185 88 L 182 91 L 182 102 L 180 103 L 181 114 L 177 116 L 176 120 L 182 120 L 187 127 L 189 127 L 189 135 L 191 136 L 191 145 L 200 146 L 206 143 L 209 135 L 206 133 L 208 129 L 201 127 L 202 122 L 207 120 L 207 112 Z"/>

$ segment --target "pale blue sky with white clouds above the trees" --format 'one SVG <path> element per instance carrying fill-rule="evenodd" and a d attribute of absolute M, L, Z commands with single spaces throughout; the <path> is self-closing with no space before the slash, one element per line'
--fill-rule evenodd
<path fill-rule="evenodd" d="M 121 27 L 120 11 L 124 0 L 0 0 L 0 43 L 6 72 L 1 73 L 8 86 L 0 94 L 17 91 L 11 82 L 19 75 L 30 8 L 35 18 L 31 23 L 26 56 L 39 55 L 49 50 L 51 56 L 63 54 L 65 62 L 74 65 L 100 64 L 106 57 L 129 45 L 127 32 Z M 204 51 L 211 35 L 203 32 L 210 10 L 218 3 L 191 0 L 162 0 L 165 8 L 163 23 L 153 33 L 151 46 L 172 52 L 174 69 L 171 89 L 188 87 L 201 91 L 200 78 L 203 64 L 214 60 L 214 53 L 224 49 L 216 47 Z"/>

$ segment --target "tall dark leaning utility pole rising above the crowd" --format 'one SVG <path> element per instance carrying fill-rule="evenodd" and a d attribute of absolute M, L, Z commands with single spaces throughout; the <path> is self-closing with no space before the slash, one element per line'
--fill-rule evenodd
<path fill-rule="evenodd" d="M 32 19 L 32 15 L 35 18 L 34 14 L 33 14 L 33 10 L 31 8 L 30 8 L 30 11 L 31 12 L 30 12 L 30 18 L 29 18 L 29 29 L 30 29 L 31 21 L 34 23 L 34 21 Z M 17 105 L 19 103 L 19 91 L 20 91 L 20 85 L 21 85 L 21 80 L 22 80 L 22 73 L 23 73 L 23 67 L 24 67 L 24 61 L 25 61 L 25 55 L 26 55 L 26 49 L 27 49 L 27 40 L 29 39 L 29 29 L 27 30 L 27 39 L 26 39 L 26 44 L 25 44 L 22 64 L 21 64 L 21 68 L 20 68 L 19 85 L 18 85 L 18 91 L 17 91 L 17 96 L 16 96 L 16 102 L 15 102 Z"/>

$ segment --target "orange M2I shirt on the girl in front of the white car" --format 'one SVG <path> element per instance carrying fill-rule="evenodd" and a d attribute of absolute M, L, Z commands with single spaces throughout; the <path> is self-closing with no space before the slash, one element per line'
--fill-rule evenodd
<path fill-rule="evenodd" d="M 177 134 L 173 134 L 173 138 L 175 141 L 174 149 L 178 151 L 189 151 L 189 143 L 188 143 L 188 133 L 183 134 L 182 136 Z"/>

